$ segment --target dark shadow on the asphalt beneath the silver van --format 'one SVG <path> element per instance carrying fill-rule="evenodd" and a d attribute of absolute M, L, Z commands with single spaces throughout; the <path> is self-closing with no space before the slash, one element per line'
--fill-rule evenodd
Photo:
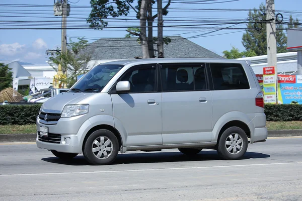
<path fill-rule="evenodd" d="M 257 153 L 257 152 L 246 152 L 244 157 L 240 160 L 256 159 L 256 158 L 269 158 L 270 155 Z M 41 160 L 64 164 L 64 165 L 90 165 L 83 155 L 74 157 L 71 160 L 63 160 L 57 157 L 42 158 Z M 201 151 L 199 154 L 189 156 L 182 154 L 181 152 L 147 152 L 147 153 L 127 153 L 118 154 L 116 160 L 111 165 L 118 164 L 135 164 L 135 163 L 163 163 L 163 162 L 190 162 L 190 161 L 214 161 L 222 160 L 216 151 Z"/>

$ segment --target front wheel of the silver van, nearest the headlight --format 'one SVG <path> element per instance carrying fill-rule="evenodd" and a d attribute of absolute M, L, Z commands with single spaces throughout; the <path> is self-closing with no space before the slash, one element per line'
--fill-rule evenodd
<path fill-rule="evenodd" d="M 86 140 L 83 155 L 93 165 L 111 164 L 118 154 L 118 140 L 106 129 L 93 132 Z"/>

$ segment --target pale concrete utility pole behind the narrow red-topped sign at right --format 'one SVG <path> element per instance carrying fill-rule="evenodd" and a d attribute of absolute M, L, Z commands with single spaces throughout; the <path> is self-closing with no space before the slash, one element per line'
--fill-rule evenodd
<path fill-rule="evenodd" d="M 266 12 L 267 65 L 268 67 L 275 67 L 276 104 L 278 104 L 277 42 L 274 0 L 266 0 Z"/>

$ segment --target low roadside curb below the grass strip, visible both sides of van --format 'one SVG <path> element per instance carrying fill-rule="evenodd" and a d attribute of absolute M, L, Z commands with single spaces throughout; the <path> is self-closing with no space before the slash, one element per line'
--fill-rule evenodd
<path fill-rule="evenodd" d="M 302 136 L 300 130 L 271 130 L 268 137 Z M 0 134 L 0 142 L 32 142 L 36 141 L 37 134 Z"/>

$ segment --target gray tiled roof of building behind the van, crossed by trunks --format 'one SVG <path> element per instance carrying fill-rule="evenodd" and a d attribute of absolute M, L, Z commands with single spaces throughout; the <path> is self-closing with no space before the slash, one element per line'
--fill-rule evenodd
<path fill-rule="evenodd" d="M 164 45 L 165 58 L 223 58 L 181 36 L 170 36 L 171 43 Z M 137 38 L 107 38 L 90 43 L 85 52 L 92 55 L 93 60 L 129 59 L 142 56 Z M 155 49 L 157 47 L 155 46 Z M 155 52 L 157 56 L 157 52 Z"/>

